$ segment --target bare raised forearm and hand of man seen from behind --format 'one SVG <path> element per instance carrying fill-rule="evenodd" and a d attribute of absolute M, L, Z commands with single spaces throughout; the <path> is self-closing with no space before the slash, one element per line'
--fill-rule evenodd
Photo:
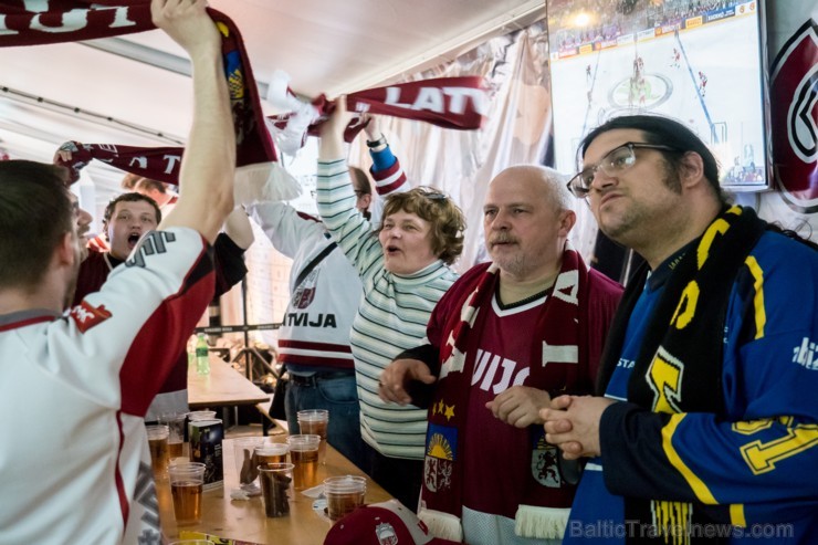
<path fill-rule="evenodd" d="M 235 134 L 221 36 L 206 6 L 204 0 L 153 0 L 150 12 L 193 67 L 193 123 L 179 175 L 181 196 L 159 229 L 189 227 L 212 242 L 233 209 Z"/>

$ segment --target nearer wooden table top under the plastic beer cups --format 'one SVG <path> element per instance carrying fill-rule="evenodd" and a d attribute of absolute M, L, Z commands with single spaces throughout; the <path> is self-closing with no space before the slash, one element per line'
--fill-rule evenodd
<path fill-rule="evenodd" d="M 162 531 L 169 538 L 179 536 L 179 531 L 204 532 L 222 538 L 243 539 L 261 544 L 293 543 L 298 545 L 322 545 L 332 522 L 313 511 L 313 499 L 295 492 L 290 503 L 290 515 L 281 518 L 268 518 L 261 496 L 247 501 L 231 500 L 230 491 L 239 488 L 239 476 L 233 457 L 233 441 L 222 441 L 224 463 L 224 486 L 207 490 L 203 493 L 202 522 L 196 525 L 177 527 L 174 517 L 174 505 L 170 485 L 167 480 L 156 484 L 159 499 L 159 513 Z M 333 475 L 364 475 L 353 463 L 338 451 L 327 446 L 326 465 L 319 465 L 318 480 Z M 366 475 L 364 475 L 366 476 Z M 371 479 L 367 478 L 366 503 L 378 503 L 391 496 Z"/>

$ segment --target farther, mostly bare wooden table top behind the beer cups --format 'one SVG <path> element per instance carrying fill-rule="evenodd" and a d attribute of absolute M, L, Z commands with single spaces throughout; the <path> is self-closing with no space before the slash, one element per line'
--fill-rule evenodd
<path fill-rule="evenodd" d="M 188 374 L 188 405 L 193 410 L 269 400 L 269 394 L 214 354 L 210 354 L 209 375 L 199 375 L 195 370 Z"/>

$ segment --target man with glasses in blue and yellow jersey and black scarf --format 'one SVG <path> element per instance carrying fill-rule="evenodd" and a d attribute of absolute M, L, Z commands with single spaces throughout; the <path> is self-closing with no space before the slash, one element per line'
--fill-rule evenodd
<path fill-rule="evenodd" d="M 580 149 L 569 189 L 646 264 L 608 335 L 604 397 L 541 411 L 566 459 L 591 458 L 565 543 L 815 543 L 816 245 L 731 207 L 672 119 L 617 117 Z"/>

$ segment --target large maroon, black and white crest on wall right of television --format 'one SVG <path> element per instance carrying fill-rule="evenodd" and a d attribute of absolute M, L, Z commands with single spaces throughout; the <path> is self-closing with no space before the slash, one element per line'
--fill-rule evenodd
<path fill-rule="evenodd" d="M 818 28 L 808 21 L 773 63 L 770 117 L 775 177 L 785 202 L 803 213 L 818 211 Z"/>

